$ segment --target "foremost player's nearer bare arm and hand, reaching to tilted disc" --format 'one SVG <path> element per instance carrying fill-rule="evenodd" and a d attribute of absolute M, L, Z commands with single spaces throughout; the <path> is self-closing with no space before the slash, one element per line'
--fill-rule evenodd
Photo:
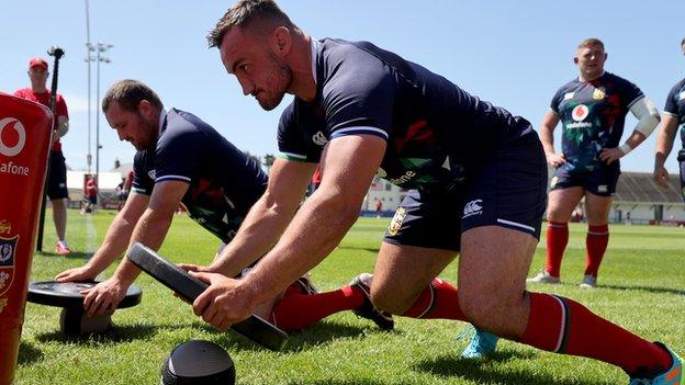
<path fill-rule="evenodd" d="M 212 325 L 224 327 L 244 319 L 256 305 L 277 295 L 326 258 L 355 224 L 363 196 L 383 158 L 385 141 L 377 136 L 350 135 L 334 139 L 327 146 L 322 161 L 321 186 L 300 207 L 283 236 L 261 262 L 237 283 L 234 291 L 220 295 L 228 299 L 225 304 L 234 305 L 209 309 L 203 314 L 205 320 L 211 319 Z M 196 314 L 212 302 L 212 294 L 205 292 L 195 301 Z M 218 317 L 214 314 L 217 310 Z"/>

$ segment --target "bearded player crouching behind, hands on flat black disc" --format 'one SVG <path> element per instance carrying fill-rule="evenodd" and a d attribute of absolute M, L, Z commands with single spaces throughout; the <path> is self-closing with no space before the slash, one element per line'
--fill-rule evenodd
<path fill-rule="evenodd" d="M 119 137 L 138 150 L 132 193 L 96 254 L 56 280 L 92 280 L 136 241 L 158 249 L 180 203 L 191 218 L 231 245 L 249 207 L 267 186 L 260 167 L 196 116 L 176 109 L 167 112 L 157 94 L 139 81 L 114 83 L 102 100 L 102 111 Z M 226 261 L 220 271 L 239 275 L 249 264 L 239 263 Z M 87 313 L 116 308 L 139 272 L 124 259 L 112 278 L 88 291 L 83 301 Z M 362 283 L 313 295 L 308 280 L 293 281 L 284 298 L 277 293 L 256 314 L 284 330 L 302 329 L 341 310 L 355 310 L 383 329 L 393 327 L 390 316 L 371 306 Z"/>

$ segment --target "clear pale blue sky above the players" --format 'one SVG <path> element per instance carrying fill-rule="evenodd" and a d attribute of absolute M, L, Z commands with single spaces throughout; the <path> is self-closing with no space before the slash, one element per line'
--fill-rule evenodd
<path fill-rule="evenodd" d="M 204 36 L 233 1 L 91 0 L 91 42 L 114 47 L 102 64 L 100 92 L 124 78 L 155 89 L 167 107 L 192 112 L 243 150 L 274 154 L 276 127 L 289 99 L 271 112 L 244 97 Z M 419 3 L 422 5 L 419 5 Z M 281 0 L 281 8 L 315 37 L 366 39 L 391 49 L 452 80 L 481 99 L 502 105 L 539 125 L 554 91 L 577 75 L 572 58 L 577 43 L 602 38 L 609 54 L 606 69 L 637 83 L 663 109 L 667 91 L 683 78 L 685 2 L 596 1 L 405 1 Z M 3 0 L 0 11 L 0 91 L 27 87 L 26 64 L 59 45 L 59 92 L 70 110 L 64 138 L 67 163 L 86 168 L 88 152 L 88 77 L 83 1 Z M 52 58 L 49 58 L 52 67 Z M 93 112 L 96 67 L 92 67 Z M 636 121 L 627 120 L 626 135 Z M 561 127 L 557 128 L 557 133 Z M 92 117 L 94 168 L 96 117 Z M 624 171 L 652 171 L 654 138 L 622 160 Z M 115 158 L 133 159 L 100 120 L 100 169 Z M 559 138 L 557 139 L 557 144 Z M 676 149 L 680 144 L 676 143 Z M 667 161 L 677 171 L 675 156 Z"/>

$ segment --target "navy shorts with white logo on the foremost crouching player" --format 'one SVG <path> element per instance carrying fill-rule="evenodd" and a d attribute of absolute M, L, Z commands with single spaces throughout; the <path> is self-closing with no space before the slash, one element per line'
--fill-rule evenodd
<path fill-rule="evenodd" d="M 456 191 L 409 191 L 383 240 L 460 251 L 461 234 L 480 226 L 507 227 L 540 239 L 546 207 L 547 162 L 536 141 L 498 151 Z"/>

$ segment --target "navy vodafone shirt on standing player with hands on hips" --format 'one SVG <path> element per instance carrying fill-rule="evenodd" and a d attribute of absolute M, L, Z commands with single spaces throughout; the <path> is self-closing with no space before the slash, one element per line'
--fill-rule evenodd
<path fill-rule="evenodd" d="M 569 171 L 593 171 L 606 165 L 599 159 L 604 148 L 618 147 L 626 115 L 644 98 L 640 89 L 616 75 L 604 72 L 584 82 L 573 79 L 552 98 L 550 109 L 562 124 L 563 166 Z M 614 162 L 614 167 L 619 167 Z"/>

